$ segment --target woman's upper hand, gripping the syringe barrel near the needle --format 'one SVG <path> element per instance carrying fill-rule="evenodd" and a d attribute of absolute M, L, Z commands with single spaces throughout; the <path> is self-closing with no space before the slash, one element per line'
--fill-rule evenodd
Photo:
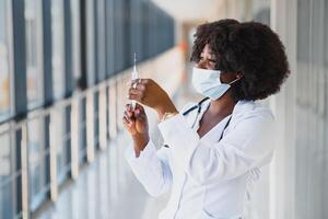
<path fill-rule="evenodd" d="M 154 108 L 160 118 L 165 113 L 177 112 L 167 93 L 152 79 L 137 79 L 129 88 L 129 100 Z"/>

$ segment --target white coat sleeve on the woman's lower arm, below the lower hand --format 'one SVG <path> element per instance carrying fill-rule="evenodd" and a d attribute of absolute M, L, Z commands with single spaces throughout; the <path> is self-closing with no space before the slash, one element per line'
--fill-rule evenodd
<path fill-rule="evenodd" d="M 168 192 L 172 186 L 172 172 L 167 148 L 162 147 L 156 150 L 150 140 L 137 158 L 131 145 L 126 150 L 126 160 L 136 177 L 151 196 L 157 197 Z"/>

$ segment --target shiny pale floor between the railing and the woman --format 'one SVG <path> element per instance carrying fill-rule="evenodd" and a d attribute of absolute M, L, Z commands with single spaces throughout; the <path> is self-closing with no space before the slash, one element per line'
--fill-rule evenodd
<path fill-rule="evenodd" d="M 178 107 L 185 104 L 180 99 Z M 154 112 L 147 110 L 151 137 L 161 142 Z M 106 151 L 82 169 L 78 180 L 65 187 L 58 200 L 38 219 L 156 219 L 167 197 L 151 198 L 136 180 L 124 152 L 130 138 L 121 132 Z"/>

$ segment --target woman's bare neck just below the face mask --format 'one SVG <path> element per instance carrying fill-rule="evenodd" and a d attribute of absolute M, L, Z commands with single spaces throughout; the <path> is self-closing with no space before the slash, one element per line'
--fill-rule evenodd
<path fill-rule="evenodd" d="M 211 101 L 209 113 L 211 115 L 227 116 L 232 114 L 236 102 L 231 97 L 230 92 L 226 92 L 220 99 Z"/>

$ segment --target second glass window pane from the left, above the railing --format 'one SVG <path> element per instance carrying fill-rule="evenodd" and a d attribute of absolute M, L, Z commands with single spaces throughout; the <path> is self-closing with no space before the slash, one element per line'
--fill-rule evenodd
<path fill-rule="evenodd" d="M 25 0 L 26 87 L 28 107 L 43 103 L 42 2 Z"/>

